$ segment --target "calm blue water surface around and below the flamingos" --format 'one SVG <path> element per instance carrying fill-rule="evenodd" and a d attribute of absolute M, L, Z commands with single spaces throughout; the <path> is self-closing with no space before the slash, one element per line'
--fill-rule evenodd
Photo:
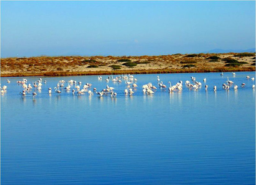
<path fill-rule="evenodd" d="M 22 78 L 1 78 L 7 85 L 0 96 L 1 183 L 255 184 L 255 81 L 245 78 L 255 72 L 236 74 L 159 74 L 166 86 L 193 76 L 203 87 L 184 84 L 182 91 L 153 95 L 141 86 L 157 86 L 157 74 L 134 75 L 133 96 L 123 94 L 124 80 L 107 83 L 108 76 L 42 77 L 47 83 L 35 99 L 34 89 L 20 97 L 16 81 Z M 237 91 L 222 89 L 226 77 Z M 49 96 L 48 87 L 62 79 L 91 83 L 97 91 L 108 84 L 117 97 L 73 96 L 64 89 Z"/>

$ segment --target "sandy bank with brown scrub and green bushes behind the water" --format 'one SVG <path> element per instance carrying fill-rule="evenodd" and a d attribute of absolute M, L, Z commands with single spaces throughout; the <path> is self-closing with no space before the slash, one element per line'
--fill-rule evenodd
<path fill-rule="evenodd" d="M 255 71 L 255 53 L 1 58 L 1 77 L 228 71 Z"/>

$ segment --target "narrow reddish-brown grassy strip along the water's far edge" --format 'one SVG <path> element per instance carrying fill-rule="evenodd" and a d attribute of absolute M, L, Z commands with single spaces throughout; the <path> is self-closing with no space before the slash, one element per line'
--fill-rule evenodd
<path fill-rule="evenodd" d="M 118 75 L 118 74 L 173 74 L 173 73 L 207 73 L 207 72 L 243 72 L 255 71 L 255 67 L 234 67 L 223 69 L 222 67 L 213 69 L 150 69 L 150 70 L 116 70 L 116 71 L 87 71 L 87 72 L 66 72 L 66 71 L 51 71 L 51 72 L 36 72 L 36 73 L 10 73 L 0 74 L 0 77 L 55 77 L 55 76 L 83 76 L 83 75 Z"/>

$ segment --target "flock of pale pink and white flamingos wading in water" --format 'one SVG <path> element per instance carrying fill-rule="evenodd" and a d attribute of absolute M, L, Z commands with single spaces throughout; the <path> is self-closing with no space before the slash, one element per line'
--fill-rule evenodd
<path fill-rule="evenodd" d="M 220 74 L 221 76 L 223 76 L 223 72 Z M 232 75 L 236 75 L 234 72 L 232 72 Z M 247 80 L 253 80 L 254 81 L 254 77 L 250 78 L 249 76 L 246 77 Z M 98 76 L 98 80 L 102 80 L 102 77 L 101 76 Z M 133 91 L 133 89 L 136 89 L 138 86 L 136 84 L 137 82 L 137 79 L 133 77 L 133 75 L 131 74 L 122 74 L 121 76 L 119 75 L 118 77 L 115 77 L 113 78 L 113 75 L 110 77 L 108 77 L 107 79 L 105 79 L 106 82 L 109 82 L 109 81 L 112 81 L 112 82 L 116 82 L 116 83 L 122 83 L 122 80 L 125 81 L 126 83 L 126 89 L 124 89 L 124 94 L 126 95 L 130 95 L 132 96 L 133 93 L 135 93 Z M 195 77 L 191 77 L 191 80 L 192 82 L 190 81 L 186 81 L 185 82 L 185 86 L 189 89 L 193 89 L 193 90 L 198 90 L 199 87 L 202 86 L 201 82 L 197 82 L 196 81 L 196 78 Z M 203 79 L 204 82 L 206 82 L 206 78 Z M 9 80 L 7 80 L 7 83 L 10 83 Z M 46 80 L 44 80 L 44 83 L 46 84 Z M 64 84 L 67 83 L 67 86 L 64 87 Z M 39 78 L 39 80 L 37 80 L 36 82 L 32 82 L 32 86 L 31 84 L 29 83 L 27 85 L 27 79 L 23 78 L 22 81 L 17 81 L 17 84 L 21 84 L 22 85 L 22 88 L 24 89 L 22 92 L 20 92 L 20 96 L 26 96 L 27 94 L 29 94 L 33 88 L 37 91 L 41 91 L 42 89 L 42 78 Z M 160 89 L 166 89 L 167 86 L 163 84 L 162 81 L 160 81 L 160 78 L 159 76 L 157 76 L 157 84 L 158 84 L 158 88 Z M 168 87 L 168 91 L 169 92 L 173 92 L 173 91 L 181 91 L 182 90 L 182 81 L 180 80 L 179 82 L 177 82 L 175 85 L 171 85 L 171 82 L 168 82 L 168 84 L 170 84 L 170 86 Z M 223 89 L 229 89 L 232 85 L 234 84 L 234 82 L 232 82 L 231 80 L 228 80 L 226 81 L 226 83 L 223 83 L 222 85 L 222 88 Z M 117 93 L 114 92 L 114 89 L 113 87 L 110 87 L 110 86 L 106 86 L 106 88 L 102 89 L 101 91 L 98 91 L 97 92 L 97 89 L 96 88 L 93 88 L 92 90 L 89 90 L 91 88 L 91 84 L 90 83 L 86 83 L 85 85 L 83 85 L 83 88 L 82 88 L 82 82 L 76 82 L 75 80 L 69 80 L 68 82 L 65 82 L 64 80 L 60 80 L 56 87 L 54 87 L 54 90 L 56 93 L 58 94 L 61 94 L 61 90 L 64 90 L 65 91 L 70 91 L 71 90 L 71 85 L 75 85 L 74 88 L 75 89 L 72 89 L 72 94 L 75 95 L 82 95 L 82 94 L 85 94 L 85 93 L 88 93 L 89 96 L 93 96 L 94 93 L 98 94 L 99 96 L 103 96 L 103 95 L 108 95 L 110 94 L 111 97 L 116 97 L 117 96 Z M 81 86 L 81 87 L 80 87 Z M 242 83 L 241 84 L 241 87 L 244 87 L 245 86 L 245 83 Z M 234 90 L 237 90 L 238 86 L 234 84 Z M 255 85 L 252 85 L 252 88 L 255 89 Z M 6 93 L 6 89 L 7 89 L 7 86 L 4 85 L 3 87 L 0 86 L 0 89 L 1 89 L 1 94 L 5 94 Z M 154 94 L 155 90 L 157 89 L 156 86 L 153 86 L 152 83 L 148 83 L 148 84 L 145 84 L 142 86 L 142 91 L 143 91 L 143 94 Z M 208 85 L 205 85 L 205 90 L 207 91 L 208 89 Z M 214 86 L 213 87 L 213 90 L 214 91 L 217 91 L 217 86 Z M 52 93 L 52 88 L 48 88 L 48 93 L 51 94 Z M 36 97 L 36 92 L 34 91 L 32 93 L 32 96 L 33 98 Z"/>

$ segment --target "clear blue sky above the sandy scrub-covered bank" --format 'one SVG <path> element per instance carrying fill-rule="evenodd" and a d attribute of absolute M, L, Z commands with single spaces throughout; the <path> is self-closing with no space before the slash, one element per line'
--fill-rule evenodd
<path fill-rule="evenodd" d="M 1 1 L 1 57 L 254 47 L 255 1 Z"/>

